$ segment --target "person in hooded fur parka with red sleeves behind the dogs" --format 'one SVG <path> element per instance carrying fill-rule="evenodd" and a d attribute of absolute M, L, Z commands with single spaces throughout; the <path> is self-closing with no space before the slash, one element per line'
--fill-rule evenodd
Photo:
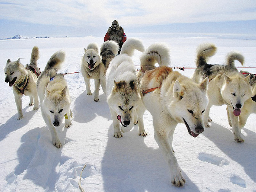
<path fill-rule="evenodd" d="M 116 20 L 112 22 L 111 27 L 109 27 L 109 29 L 107 30 L 107 33 L 104 37 L 104 42 L 106 42 L 107 40 L 112 40 L 117 42 L 120 50 L 123 46 L 123 43 L 126 41 L 126 35 L 125 35 L 125 32 L 123 31 L 123 27 L 119 26 Z"/>

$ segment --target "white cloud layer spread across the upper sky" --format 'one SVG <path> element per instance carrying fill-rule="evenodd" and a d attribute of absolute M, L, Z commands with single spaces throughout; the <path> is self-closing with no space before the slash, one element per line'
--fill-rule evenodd
<path fill-rule="evenodd" d="M 16 0 L 0 2 L 0 19 L 55 26 L 122 26 L 256 19 L 254 0 Z"/>

